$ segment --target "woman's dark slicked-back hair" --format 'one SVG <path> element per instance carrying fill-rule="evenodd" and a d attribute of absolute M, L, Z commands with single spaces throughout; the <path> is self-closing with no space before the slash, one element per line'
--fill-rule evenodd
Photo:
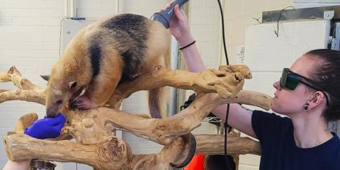
<path fill-rule="evenodd" d="M 329 98 L 329 107 L 324 111 L 327 121 L 340 119 L 340 52 L 329 49 L 312 50 L 305 54 L 319 60 L 311 74 L 316 85 L 323 89 Z"/>

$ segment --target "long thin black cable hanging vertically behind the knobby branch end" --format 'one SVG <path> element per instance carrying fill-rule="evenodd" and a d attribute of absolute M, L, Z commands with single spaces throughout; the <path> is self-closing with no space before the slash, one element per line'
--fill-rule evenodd
<path fill-rule="evenodd" d="M 218 5 L 220 6 L 221 20 L 222 20 L 222 40 L 223 40 L 223 48 L 225 50 L 225 60 L 227 65 L 229 65 L 228 54 L 227 54 L 227 45 L 225 43 L 225 19 L 223 17 L 223 10 L 220 0 L 218 1 Z M 227 169 L 231 170 L 231 166 L 229 164 L 229 159 L 227 156 L 227 133 L 228 133 L 228 117 L 229 117 L 229 103 L 227 104 L 227 113 L 225 114 L 225 162 L 227 164 Z"/>

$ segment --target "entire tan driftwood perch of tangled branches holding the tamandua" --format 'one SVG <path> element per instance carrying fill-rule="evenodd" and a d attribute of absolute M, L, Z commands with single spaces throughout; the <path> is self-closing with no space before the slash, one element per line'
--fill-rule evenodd
<path fill-rule="evenodd" d="M 245 103 L 267 110 L 271 107 L 271 97 L 242 91 L 244 79 L 250 78 L 249 69 L 245 66 L 222 67 L 220 71 L 208 69 L 200 74 L 159 68 L 152 74 L 141 75 L 118 86 L 108 107 L 86 111 L 69 111 L 65 107 L 62 113 L 67 123 L 58 139 L 38 140 L 23 135 L 23 130 L 38 119 L 34 113 L 24 115 L 18 120 L 15 132 L 4 137 L 6 153 L 12 161 L 50 159 L 88 164 L 94 169 L 171 169 L 171 166 L 184 166 L 195 152 L 224 152 L 221 135 L 193 137 L 190 134 L 213 108 L 225 103 Z M 15 67 L 7 73 L 0 72 L 0 81 L 12 81 L 19 88 L 17 91 L 0 89 L 0 102 L 23 100 L 45 103 L 45 89 L 23 78 Z M 160 86 L 193 89 L 198 96 L 191 106 L 169 118 L 152 119 L 118 110 L 123 99 L 135 91 Z M 157 142 L 164 145 L 164 149 L 159 154 L 132 154 L 127 143 L 112 135 L 117 129 Z M 62 140 L 69 136 L 77 142 Z M 247 137 L 229 134 L 227 143 L 229 154 L 261 153 L 259 142 Z"/>

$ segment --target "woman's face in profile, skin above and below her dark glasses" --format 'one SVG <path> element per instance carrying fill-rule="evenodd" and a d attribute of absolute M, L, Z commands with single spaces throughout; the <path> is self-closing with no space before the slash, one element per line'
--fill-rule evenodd
<path fill-rule="evenodd" d="M 290 70 L 310 78 L 314 64 L 315 60 L 312 57 L 302 56 L 293 63 Z M 299 83 L 293 91 L 282 89 L 280 81 L 276 81 L 273 86 L 276 88 L 272 103 L 272 110 L 274 112 L 289 116 L 305 111 L 305 103 L 307 103 L 311 93 L 307 91 L 305 84 Z"/>

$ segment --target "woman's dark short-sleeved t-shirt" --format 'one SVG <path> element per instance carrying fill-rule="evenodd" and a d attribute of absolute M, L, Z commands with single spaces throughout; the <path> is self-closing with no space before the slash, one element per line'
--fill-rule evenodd
<path fill-rule="evenodd" d="M 317 147 L 300 148 L 295 145 L 290 118 L 254 111 L 251 125 L 261 143 L 260 170 L 340 170 L 336 134 Z"/>

